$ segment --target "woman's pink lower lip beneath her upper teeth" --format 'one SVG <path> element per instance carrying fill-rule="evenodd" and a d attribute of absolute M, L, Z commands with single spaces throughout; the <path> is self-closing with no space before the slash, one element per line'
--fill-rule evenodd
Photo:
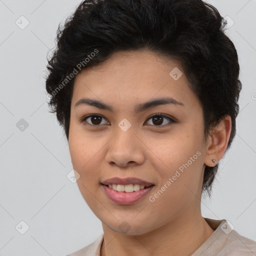
<path fill-rule="evenodd" d="M 139 189 L 133 192 L 118 192 L 108 187 L 107 185 L 101 184 L 101 186 L 104 188 L 105 193 L 109 199 L 111 199 L 116 204 L 122 204 L 122 205 L 132 204 L 137 202 L 139 199 L 145 196 L 153 187 L 152 185 L 147 188 Z"/>

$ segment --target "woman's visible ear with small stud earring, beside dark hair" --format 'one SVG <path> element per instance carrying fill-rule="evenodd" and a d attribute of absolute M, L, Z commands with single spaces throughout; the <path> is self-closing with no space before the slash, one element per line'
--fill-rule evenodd
<path fill-rule="evenodd" d="M 204 164 L 215 166 L 225 153 L 231 132 L 231 117 L 225 115 L 207 138 Z M 212 159 L 215 162 L 212 162 Z"/>

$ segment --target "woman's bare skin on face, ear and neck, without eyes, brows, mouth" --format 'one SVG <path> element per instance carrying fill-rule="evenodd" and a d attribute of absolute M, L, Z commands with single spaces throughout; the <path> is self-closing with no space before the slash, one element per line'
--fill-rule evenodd
<path fill-rule="evenodd" d="M 174 67 L 182 71 L 177 60 L 143 49 L 116 52 L 75 77 L 69 150 L 80 175 L 79 190 L 102 222 L 102 256 L 191 255 L 214 231 L 200 211 L 203 170 L 223 156 L 231 119 L 226 115 L 205 140 L 202 108 L 184 72 L 178 80 L 169 75 Z M 134 113 L 136 104 L 163 96 L 184 105 L 158 105 Z M 103 101 L 113 111 L 86 104 L 74 107 L 83 97 Z M 176 122 L 164 118 L 157 124 L 148 119 L 159 113 Z M 89 114 L 102 115 L 101 122 L 91 118 L 80 122 Z M 125 132 L 118 127 L 123 118 L 131 123 Z M 200 156 L 155 201 L 149 201 L 197 151 Z M 138 202 L 118 205 L 100 185 L 114 176 L 138 177 L 154 187 Z M 118 228 L 123 221 L 129 226 L 126 233 Z"/>

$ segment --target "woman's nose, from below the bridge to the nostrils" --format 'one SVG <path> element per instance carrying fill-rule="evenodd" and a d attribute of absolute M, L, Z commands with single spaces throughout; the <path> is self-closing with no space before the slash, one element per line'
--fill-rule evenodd
<path fill-rule="evenodd" d="M 105 159 L 109 164 L 121 167 L 142 164 L 145 158 L 144 147 L 131 128 L 123 131 L 118 127 L 108 143 Z"/>

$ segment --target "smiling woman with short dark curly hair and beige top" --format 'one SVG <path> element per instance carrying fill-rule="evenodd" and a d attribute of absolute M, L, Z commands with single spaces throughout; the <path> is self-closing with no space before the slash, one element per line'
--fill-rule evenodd
<path fill-rule="evenodd" d="M 218 11 L 201 0 L 85 0 L 58 27 L 49 105 L 103 234 L 69 255 L 253 255 L 204 218 L 235 135 L 241 83 Z"/>

